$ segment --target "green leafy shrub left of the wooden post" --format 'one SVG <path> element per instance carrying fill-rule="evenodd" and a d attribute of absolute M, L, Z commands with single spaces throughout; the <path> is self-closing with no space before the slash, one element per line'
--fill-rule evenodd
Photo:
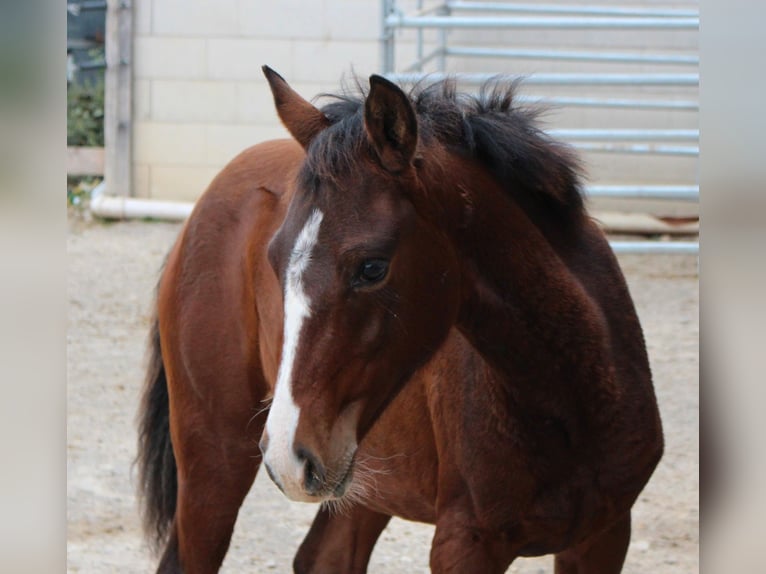
<path fill-rule="evenodd" d="M 67 86 L 67 145 L 103 147 L 103 81 Z"/>

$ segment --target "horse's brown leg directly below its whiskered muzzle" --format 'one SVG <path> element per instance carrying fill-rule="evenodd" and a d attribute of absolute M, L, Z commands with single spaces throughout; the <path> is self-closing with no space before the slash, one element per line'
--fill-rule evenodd
<path fill-rule="evenodd" d="M 355 505 L 343 514 L 322 506 L 293 562 L 296 574 L 364 574 L 391 517 Z"/>

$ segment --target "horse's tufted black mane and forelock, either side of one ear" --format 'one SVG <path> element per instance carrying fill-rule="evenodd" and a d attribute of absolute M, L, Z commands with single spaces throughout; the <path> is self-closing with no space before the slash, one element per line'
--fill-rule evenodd
<path fill-rule="evenodd" d="M 517 85 L 495 79 L 470 95 L 458 93 L 454 79 L 416 84 L 409 97 L 421 142 L 436 140 L 477 159 L 528 211 L 581 210 L 574 151 L 537 126 L 540 109 L 516 104 Z M 356 81 L 353 91 L 320 97 L 330 98 L 321 110 L 332 125 L 312 142 L 306 168 L 311 177 L 332 178 L 353 169 L 360 152 L 371 151 L 364 134 L 366 93 Z"/>

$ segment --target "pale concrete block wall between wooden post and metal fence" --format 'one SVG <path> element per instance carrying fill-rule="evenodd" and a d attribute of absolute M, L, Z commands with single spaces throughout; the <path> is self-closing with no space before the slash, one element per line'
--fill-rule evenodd
<path fill-rule="evenodd" d="M 288 137 L 261 73 L 302 95 L 379 71 L 379 0 L 134 0 L 134 189 L 194 200 L 236 154 Z"/>

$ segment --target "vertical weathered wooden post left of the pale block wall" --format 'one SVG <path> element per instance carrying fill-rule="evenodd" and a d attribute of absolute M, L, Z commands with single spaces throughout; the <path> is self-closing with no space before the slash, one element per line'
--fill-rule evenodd
<path fill-rule="evenodd" d="M 109 195 L 132 194 L 133 6 L 107 0 L 104 180 Z"/>

